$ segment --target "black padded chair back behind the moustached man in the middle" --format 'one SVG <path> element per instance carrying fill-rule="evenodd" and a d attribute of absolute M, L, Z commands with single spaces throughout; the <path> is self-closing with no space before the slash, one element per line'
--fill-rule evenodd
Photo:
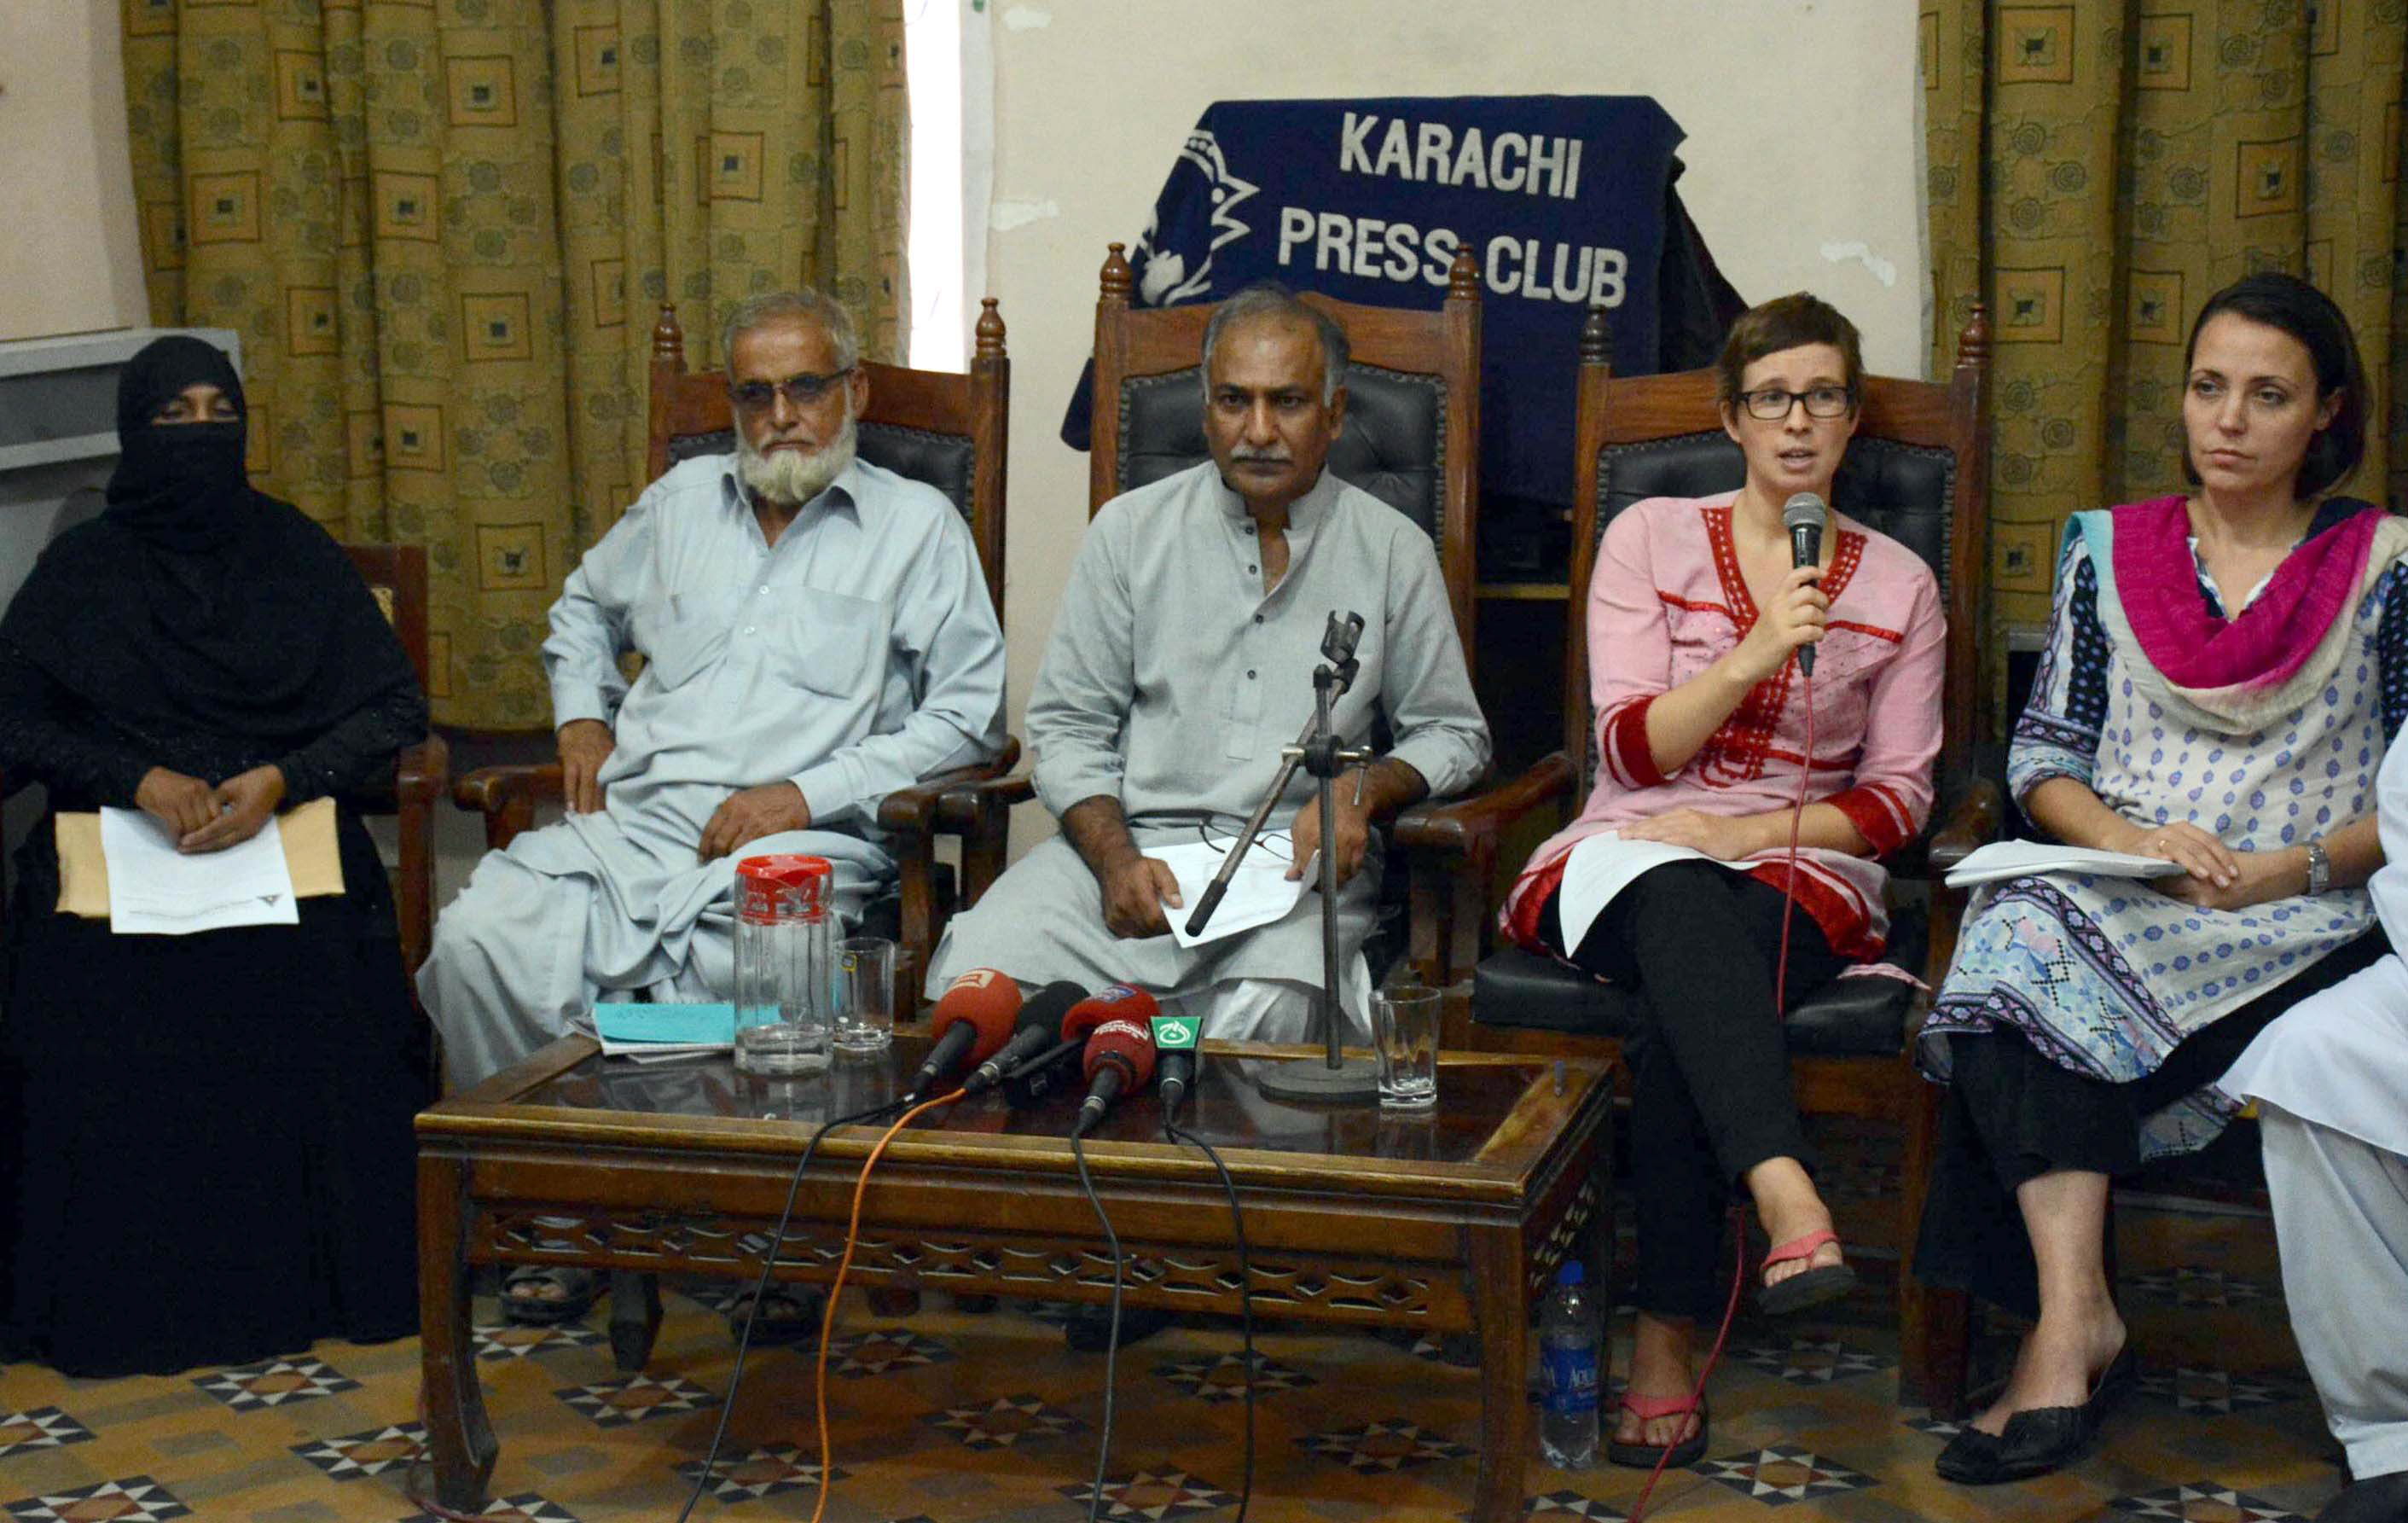
<path fill-rule="evenodd" d="M 1211 458 L 1202 369 L 1132 376 L 1120 388 L 1120 487 L 1149 487 Z M 1418 523 L 1435 545 L 1447 484 L 1447 383 L 1346 366 L 1346 427 L 1329 470 Z"/>

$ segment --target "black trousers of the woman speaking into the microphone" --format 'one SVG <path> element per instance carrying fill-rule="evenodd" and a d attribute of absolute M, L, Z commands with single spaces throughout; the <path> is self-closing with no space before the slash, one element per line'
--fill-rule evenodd
<path fill-rule="evenodd" d="M 1787 896 L 1717 863 L 1666 863 L 1606 904 L 1570 959 L 1630 988 L 1642 1027 L 1630 1063 L 1630 1174 L 1640 1272 L 1633 1304 L 1666 1318 L 1722 1321 L 1722 1212 L 1765 1159 L 1813 1169 L 1789 1084 L 1775 1005 Z M 1539 935 L 1563 952 L 1556 899 Z M 1847 959 L 1804 908 L 1789 923 L 1792 1002 Z"/>

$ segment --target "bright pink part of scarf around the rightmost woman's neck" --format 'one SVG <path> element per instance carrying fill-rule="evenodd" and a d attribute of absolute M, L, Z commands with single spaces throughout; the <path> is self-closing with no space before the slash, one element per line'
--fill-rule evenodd
<path fill-rule="evenodd" d="M 2382 508 L 2292 549 L 2237 619 L 2208 612 L 2182 496 L 2114 508 L 2114 590 L 2141 653 L 2174 687 L 2280 687 L 2357 600 Z M 2247 593 L 2235 588 L 2227 595 Z"/>

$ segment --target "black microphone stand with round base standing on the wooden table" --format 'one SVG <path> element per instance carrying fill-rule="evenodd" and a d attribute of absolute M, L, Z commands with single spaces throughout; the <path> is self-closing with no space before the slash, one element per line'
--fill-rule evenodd
<path fill-rule="evenodd" d="M 1204 896 L 1197 901 L 1192 916 L 1187 916 L 1187 935 L 1197 935 L 1211 921 L 1211 913 L 1221 908 L 1221 896 L 1228 892 L 1228 882 L 1238 875 L 1238 863 L 1255 846 L 1262 834 L 1264 822 L 1271 810 L 1288 793 L 1288 781 L 1296 769 L 1303 766 L 1317 778 L 1320 786 L 1320 817 L 1322 817 L 1322 1063 L 1264 1063 L 1257 1070 L 1257 1082 L 1264 1094 L 1274 1099 L 1363 1099 L 1377 1094 L 1380 1080 L 1377 1068 L 1368 1058 L 1348 1060 L 1339 1051 L 1339 819 L 1336 819 L 1336 776 L 1348 766 L 1370 766 L 1377 757 L 1370 749 L 1346 749 L 1339 745 L 1336 725 L 1329 713 L 1336 701 L 1353 687 L 1356 672 L 1363 663 L 1356 660 L 1356 641 L 1363 639 L 1363 615 L 1339 615 L 1329 610 L 1329 624 L 1322 631 L 1322 655 L 1324 663 L 1312 668 L 1312 721 L 1305 723 L 1296 745 L 1279 749 L 1279 776 L 1271 778 L 1271 788 L 1255 805 L 1255 815 L 1245 822 L 1245 831 L 1230 846 L 1228 858 L 1214 875 Z M 1356 802 L 1363 802 L 1363 778 L 1356 776 Z"/>

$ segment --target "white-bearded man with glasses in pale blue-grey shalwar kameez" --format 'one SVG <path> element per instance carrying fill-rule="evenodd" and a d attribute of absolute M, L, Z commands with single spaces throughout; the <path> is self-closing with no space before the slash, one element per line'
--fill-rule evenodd
<path fill-rule="evenodd" d="M 978 549 L 937 489 L 855 458 L 843 311 L 761 299 L 730 328 L 737 453 L 653 482 L 551 607 L 568 815 L 477 865 L 419 971 L 455 1084 L 595 1000 L 725 1000 L 737 858 L 828 858 L 857 916 L 893 875 L 879 800 L 1002 745 Z"/>

